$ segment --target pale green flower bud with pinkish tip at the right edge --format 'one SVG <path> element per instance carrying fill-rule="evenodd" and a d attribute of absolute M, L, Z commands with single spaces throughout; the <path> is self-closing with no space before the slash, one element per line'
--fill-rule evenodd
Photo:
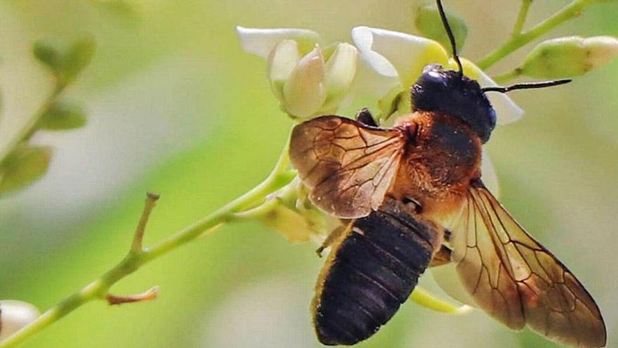
<path fill-rule="evenodd" d="M 561 37 L 534 47 L 520 73 L 543 79 L 584 75 L 617 54 L 618 39 L 614 37 Z"/>

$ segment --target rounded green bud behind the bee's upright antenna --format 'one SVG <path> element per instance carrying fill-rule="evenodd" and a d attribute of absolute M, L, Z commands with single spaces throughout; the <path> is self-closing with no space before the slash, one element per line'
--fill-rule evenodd
<path fill-rule="evenodd" d="M 457 49 L 461 50 L 463 44 L 466 42 L 468 36 L 468 25 L 458 14 L 445 9 L 447 20 L 453 31 Z M 442 46 L 450 47 L 451 43 L 445 30 L 438 8 L 435 5 L 421 6 L 416 11 L 416 18 L 414 18 L 414 25 L 416 29 L 423 34 L 423 37 L 434 39 L 440 42 Z"/>

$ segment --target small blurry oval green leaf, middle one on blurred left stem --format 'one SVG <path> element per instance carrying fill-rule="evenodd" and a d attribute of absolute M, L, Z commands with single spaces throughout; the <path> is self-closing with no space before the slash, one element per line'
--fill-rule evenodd
<path fill-rule="evenodd" d="M 56 101 L 44 112 L 37 127 L 47 130 L 77 129 L 86 124 L 86 112 L 79 105 Z"/>

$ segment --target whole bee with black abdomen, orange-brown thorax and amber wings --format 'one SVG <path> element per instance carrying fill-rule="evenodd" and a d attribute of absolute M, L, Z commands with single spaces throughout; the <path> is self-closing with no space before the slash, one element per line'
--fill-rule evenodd
<path fill-rule="evenodd" d="M 487 92 L 570 80 L 481 88 L 463 75 L 452 30 L 438 9 L 459 71 L 428 65 L 412 86 L 413 110 L 390 128 L 368 110 L 298 124 L 289 155 L 313 205 L 341 219 L 317 280 L 313 321 L 327 345 L 371 337 L 430 266 L 453 263 L 476 307 L 515 330 L 528 326 L 575 347 L 604 347 L 589 292 L 518 224 L 482 182 L 481 150 L 496 124 Z"/>

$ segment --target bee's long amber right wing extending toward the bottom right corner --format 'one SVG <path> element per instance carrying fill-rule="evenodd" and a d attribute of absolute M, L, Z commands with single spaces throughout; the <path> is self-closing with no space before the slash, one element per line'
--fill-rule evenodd
<path fill-rule="evenodd" d="M 482 182 L 473 183 L 450 227 L 452 258 L 478 307 L 513 329 L 528 325 L 563 344 L 605 346 L 605 323 L 584 286 Z"/>

